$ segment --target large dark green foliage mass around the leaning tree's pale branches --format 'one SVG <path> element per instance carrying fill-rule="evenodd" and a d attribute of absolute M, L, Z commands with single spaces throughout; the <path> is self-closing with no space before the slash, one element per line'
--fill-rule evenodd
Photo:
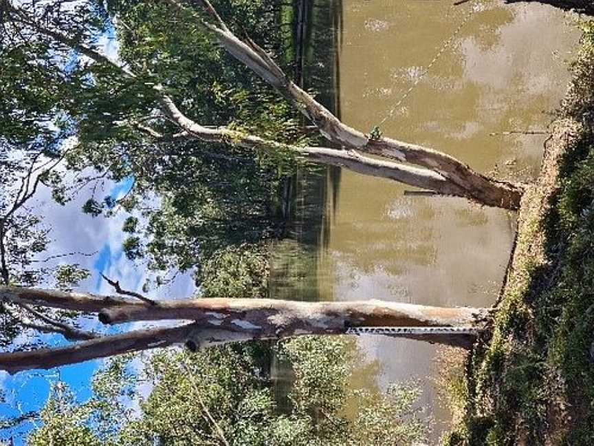
<path fill-rule="evenodd" d="M 220 0 L 215 6 L 236 32 L 257 38 L 273 55 L 282 54 L 278 2 Z M 106 30 L 115 31 L 120 60 L 135 72 L 131 79 L 109 64 L 74 59 L 72 49 L 37 32 L 31 33 L 34 45 L 21 41 L 21 25 L 8 19 L 2 30 L 11 45 L 0 54 L 6 74 L 0 90 L 1 134 L 11 142 L 30 142 L 48 134 L 40 123 L 52 123 L 59 135 L 48 138 L 55 137 L 56 144 L 76 136 L 76 145 L 64 153 L 71 169 L 108 171 L 115 181 L 134 178 L 134 190 L 121 204 L 142 214 L 146 224 L 135 226 L 142 238 L 128 240 L 129 257 L 144 257 L 155 270 L 195 269 L 219 250 L 259 244 L 283 231 L 279 191 L 300 165 L 292 153 L 241 149 L 232 138 L 223 145 L 155 143 L 132 125 L 140 121 L 166 135 L 179 131 L 155 114 L 154 87 L 161 85 L 203 125 L 307 143 L 297 112 L 199 25 L 199 8 L 172 12 L 164 2 L 125 0 L 83 1 L 72 10 L 35 2 L 22 7 L 43 14 L 47 26 L 60 24 L 56 31 L 89 47 L 96 47 Z M 46 182 L 64 204 L 69 198 L 60 180 L 52 174 Z M 111 198 L 90 198 L 83 211 L 109 216 L 114 204 Z"/>

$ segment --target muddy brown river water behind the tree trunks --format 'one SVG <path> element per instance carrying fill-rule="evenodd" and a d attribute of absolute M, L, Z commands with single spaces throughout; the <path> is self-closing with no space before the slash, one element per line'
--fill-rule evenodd
<path fill-rule="evenodd" d="M 477 171 L 534 178 L 546 138 L 539 133 L 566 91 L 579 32 L 539 3 L 452 3 L 313 2 L 302 52 L 314 67 L 310 78 L 330 74 L 318 73 L 316 86 L 348 125 L 370 131 L 382 123 L 385 136 L 445 151 Z M 515 213 L 410 194 L 349 171 L 310 174 L 292 187 L 292 237 L 273 250 L 271 297 L 474 307 L 496 300 Z M 436 348 L 371 335 L 358 342 L 380 363 L 358 384 L 420 379 L 438 435 L 448 414 L 430 379 Z"/>

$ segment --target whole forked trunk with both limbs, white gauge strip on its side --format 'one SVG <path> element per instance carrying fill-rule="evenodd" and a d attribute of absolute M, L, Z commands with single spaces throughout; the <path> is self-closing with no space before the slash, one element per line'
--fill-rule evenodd
<path fill-rule="evenodd" d="M 202 348 L 252 339 L 304 334 L 379 334 L 468 348 L 483 328 L 485 308 L 440 308 L 384 301 L 300 302 L 276 299 L 169 299 L 152 303 L 114 296 L 0 286 L 0 299 L 98 314 L 104 323 L 192 321 L 173 328 L 150 328 L 102 336 L 59 348 L 0 354 L 0 370 L 10 373 L 53 368 L 116 354 L 186 343 Z M 359 330 L 358 328 L 368 328 Z M 448 330 L 451 328 L 451 330 Z M 457 331 L 456 331 L 457 330 Z M 371 331 L 373 334 L 373 331 Z"/>

